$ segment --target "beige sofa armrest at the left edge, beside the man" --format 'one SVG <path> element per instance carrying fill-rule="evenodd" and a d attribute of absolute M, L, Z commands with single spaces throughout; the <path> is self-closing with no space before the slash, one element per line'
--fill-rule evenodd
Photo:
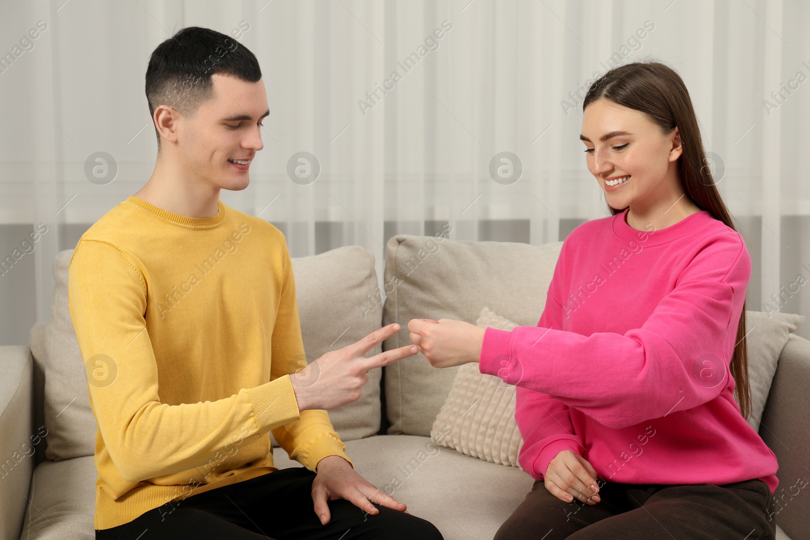
<path fill-rule="evenodd" d="M 19 540 L 34 470 L 31 351 L 0 347 L 0 369 L 0 540 Z"/>

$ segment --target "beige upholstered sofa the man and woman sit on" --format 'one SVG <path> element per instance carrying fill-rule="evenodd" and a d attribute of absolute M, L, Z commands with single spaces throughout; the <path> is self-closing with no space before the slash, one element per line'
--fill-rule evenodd
<path fill-rule="evenodd" d="M 412 317 L 475 323 L 488 307 L 520 325 L 536 325 L 560 247 L 394 236 L 386 245 L 384 293 L 366 249 L 293 259 L 308 361 L 394 321 L 403 330 L 383 347 L 402 346 Z M 96 423 L 67 306 L 71 254 L 63 251 L 54 262 L 49 321 L 32 327 L 30 349 L 0 347 L 0 540 L 93 538 Z M 753 392 L 765 408 L 761 423 L 758 417 L 749 422 L 780 463 L 778 538 L 808 538 L 810 491 L 799 480 L 810 476 L 810 342 L 791 334 L 804 317 L 748 316 Z M 356 470 L 370 482 L 432 521 L 448 540 L 488 539 L 533 480 L 518 467 L 432 442 L 433 421 L 454 375 L 455 369 L 437 370 L 414 356 L 371 372 L 360 400 L 330 417 Z M 274 457 L 279 468 L 300 466 L 278 447 Z"/>

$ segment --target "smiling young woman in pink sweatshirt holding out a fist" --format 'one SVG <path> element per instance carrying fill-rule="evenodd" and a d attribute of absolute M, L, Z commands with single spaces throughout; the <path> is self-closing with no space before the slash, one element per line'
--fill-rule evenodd
<path fill-rule="evenodd" d="M 408 324 L 434 366 L 479 362 L 518 387 L 536 481 L 496 538 L 775 538 L 778 464 L 745 420 L 751 259 L 689 92 L 633 63 L 582 107 L 612 217 L 565 239 L 538 325 Z"/>

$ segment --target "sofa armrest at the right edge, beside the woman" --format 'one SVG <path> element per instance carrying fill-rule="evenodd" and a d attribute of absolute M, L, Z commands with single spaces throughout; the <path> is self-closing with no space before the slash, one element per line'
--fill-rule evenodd
<path fill-rule="evenodd" d="M 791 538 L 810 529 L 810 341 L 791 334 L 762 414 L 759 434 L 779 462 L 776 522 Z"/>

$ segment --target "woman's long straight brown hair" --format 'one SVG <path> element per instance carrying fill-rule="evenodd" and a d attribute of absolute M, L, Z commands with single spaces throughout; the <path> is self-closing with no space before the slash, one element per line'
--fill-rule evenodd
<path fill-rule="evenodd" d="M 616 104 L 633 108 L 658 124 L 664 134 L 678 127 L 683 152 L 678 158 L 678 173 L 686 196 L 701 210 L 709 213 L 733 230 L 731 214 L 720 197 L 710 168 L 706 166 L 697 117 L 684 81 L 671 67 L 660 62 L 633 62 L 609 70 L 590 85 L 582 111 L 591 101 L 606 99 Z M 722 178 L 721 178 L 722 180 Z M 617 209 L 608 205 L 612 215 L 626 208 Z M 734 355 L 731 358 L 731 376 L 734 377 L 735 398 L 745 419 L 751 414 L 751 388 L 748 384 L 748 347 L 745 341 L 745 302 Z"/>

